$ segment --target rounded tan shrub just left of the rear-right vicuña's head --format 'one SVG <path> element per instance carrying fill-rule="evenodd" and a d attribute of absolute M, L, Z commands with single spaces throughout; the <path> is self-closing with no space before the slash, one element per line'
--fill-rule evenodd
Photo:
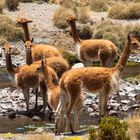
<path fill-rule="evenodd" d="M 58 28 L 67 28 L 69 25 L 66 22 L 68 16 L 75 16 L 74 12 L 71 9 L 60 7 L 55 11 L 54 14 L 54 25 Z"/>

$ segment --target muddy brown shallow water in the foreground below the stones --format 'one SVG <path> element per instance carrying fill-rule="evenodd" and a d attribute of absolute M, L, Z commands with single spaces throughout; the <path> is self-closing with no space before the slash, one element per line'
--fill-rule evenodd
<path fill-rule="evenodd" d="M 54 124 L 54 120 L 52 121 L 33 121 L 31 118 L 28 117 L 19 117 L 15 119 L 9 119 L 7 117 L 1 116 L 0 117 L 0 133 L 20 133 L 17 131 L 17 128 L 21 129 L 26 126 L 38 126 L 38 127 L 43 127 L 44 125 L 47 125 L 47 123 Z M 79 118 L 79 124 L 81 126 L 84 125 L 91 125 L 91 124 L 97 124 L 97 119 L 89 116 L 85 112 L 81 112 L 80 118 Z M 21 132 L 24 132 L 21 131 Z"/>

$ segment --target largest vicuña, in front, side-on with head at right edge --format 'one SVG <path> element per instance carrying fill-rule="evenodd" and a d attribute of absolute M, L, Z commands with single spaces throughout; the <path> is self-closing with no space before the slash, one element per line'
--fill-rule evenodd
<path fill-rule="evenodd" d="M 80 97 L 81 89 L 99 93 L 99 115 L 107 115 L 107 102 L 109 95 L 117 92 L 119 78 L 127 63 L 128 57 L 133 49 L 140 49 L 138 40 L 128 35 L 128 41 L 123 48 L 121 57 L 113 68 L 105 67 L 85 67 L 77 68 L 66 72 L 60 80 L 61 98 L 56 111 L 56 128 L 57 132 L 61 130 L 61 119 L 63 108 L 66 104 L 65 98 L 69 96 L 70 102 L 66 109 L 66 126 L 67 130 L 74 132 L 70 120 L 70 112 L 75 105 L 76 100 Z M 63 113 L 64 114 L 64 113 Z"/>

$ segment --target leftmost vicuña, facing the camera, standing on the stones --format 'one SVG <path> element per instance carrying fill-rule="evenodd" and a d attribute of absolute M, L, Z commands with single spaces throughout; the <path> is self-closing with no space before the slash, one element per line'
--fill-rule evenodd
<path fill-rule="evenodd" d="M 17 87 L 20 88 L 24 94 L 25 97 L 25 101 L 26 101 L 26 107 L 27 107 L 27 111 L 29 110 L 29 89 L 30 88 L 34 88 L 35 91 L 38 91 L 38 87 L 40 87 L 41 93 L 42 93 L 42 98 L 43 98 L 43 112 L 45 111 L 46 108 L 46 101 L 47 101 L 47 97 L 46 97 L 46 90 L 47 87 L 45 85 L 45 80 L 44 77 L 42 76 L 38 76 L 38 74 L 36 73 L 36 69 L 38 67 L 38 65 L 36 64 L 32 64 L 32 65 L 24 65 L 21 67 L 17 67 L 14 68 L 12 65 L 12 60 L 11 60 L 11 50 L 12 50 L 12 46 L 10 44 L 6 44 L 5 46 L 3 46 L 3 50 L 5 53 L 5 59 L 6 59 L 6 69 L 8 74 L 11 76 L 12 82 L 13 84 Z M 55 73 L 55 71 L 50 68 L 50 67 L 46 67 L 48 69 L 48 76 L 53 76 L 56 77 L 57 79 L 57 75 Z M 49 78 L 49 77 L 46 77 Z M 35 107 L 37 106 L 37 101 L 35 104 Z"/>

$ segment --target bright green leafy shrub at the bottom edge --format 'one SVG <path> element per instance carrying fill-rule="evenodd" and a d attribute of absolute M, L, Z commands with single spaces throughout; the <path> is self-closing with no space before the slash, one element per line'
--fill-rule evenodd
<path fill-rule="evenodd" d="M 99 124 L 100 140 L 130 140 L 127 136 L 128 124 L 117 117 L 103 117 Z"/>

